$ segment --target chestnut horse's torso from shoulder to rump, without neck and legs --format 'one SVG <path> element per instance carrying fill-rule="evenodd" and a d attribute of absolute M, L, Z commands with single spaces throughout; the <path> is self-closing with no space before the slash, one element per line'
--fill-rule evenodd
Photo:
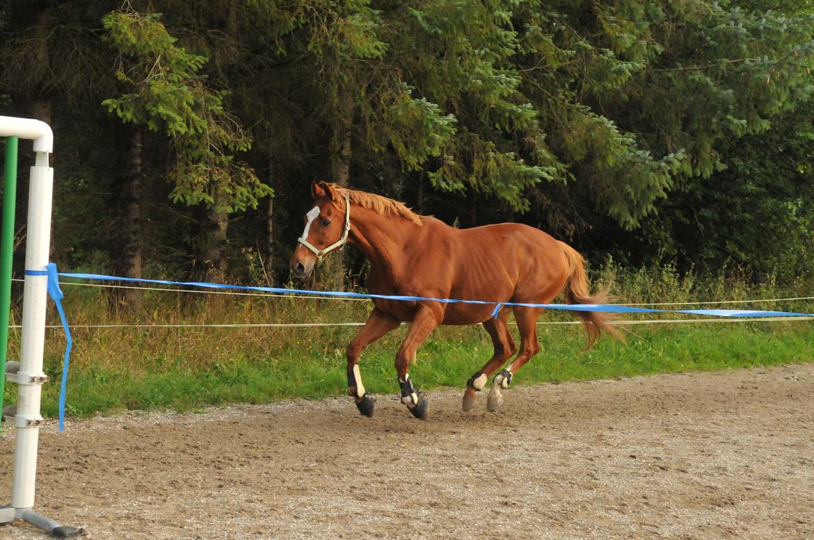
<path fill-rule="evenodd" d="M 371 273 L 371 292 L 424 298 L 479 300 L 447 303 L 442 324 L 473 324 L 492 315 L 492 302 L 547 303 L 567 281 L 561 243 L 524 224 L 501 223 L 455 229 L 422 217 L 405 257 L 392 276 Z M 419 303 L 379 300 L 376 306 L 411 320 Z"/>

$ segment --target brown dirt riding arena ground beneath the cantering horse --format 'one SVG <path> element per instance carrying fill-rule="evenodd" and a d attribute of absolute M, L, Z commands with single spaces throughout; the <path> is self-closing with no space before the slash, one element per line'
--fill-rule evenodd
<path fill-rule="evenodd" d="M 116 540 L 814 538 L 814 364 L 430 395 L 49 424 L 37 510 Z"/>

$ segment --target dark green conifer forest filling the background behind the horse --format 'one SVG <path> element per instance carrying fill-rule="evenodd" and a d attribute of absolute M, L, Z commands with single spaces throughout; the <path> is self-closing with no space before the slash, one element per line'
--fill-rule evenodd
<path fill-rule="evenodd" d="M 129 277 L 287 284 L 334 181 L 592 264 L 811 282 L 812 68 L 807 1 L 0 3 L 0 114 L 55 131 L 52 259 Z"/>

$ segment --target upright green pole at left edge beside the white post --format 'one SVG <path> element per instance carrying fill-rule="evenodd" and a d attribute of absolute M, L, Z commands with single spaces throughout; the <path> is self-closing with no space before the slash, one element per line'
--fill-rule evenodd
<path fill-rule="evenodd" d="M 17 204 L 17 137 L 6 138 L 6 182 L 2 190 L 0 240 L 0 416 L 6 391 L 8 320 L 11 313 L 11 260 L 14 258 L 14 214 Z"/>

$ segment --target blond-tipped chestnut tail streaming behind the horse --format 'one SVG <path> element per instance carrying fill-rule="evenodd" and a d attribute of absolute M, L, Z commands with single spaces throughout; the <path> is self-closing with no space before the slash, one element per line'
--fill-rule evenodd
<path fill-rule="evenodd" d="M 562 246 L 568 260 L 568 281 L 565 284 L 566 302 L 573 304 L 607 303 L 607 290 L 602 290 L 591 296 L 588 277 L 585 275 L 585 259 L 583 256 L 565 242 L 559 242 L 559 244 Z M 588 344 L 585 346 L 585 351 L 593 347 L 602 330 L 624 342 L 624 336 L 618 329 L 615 329 L 612 324 L 613 318 L 608 314 L 599 311 L 574 311 L 574 313 L 580 317 L 585 333 L 588 334 Z"/>

